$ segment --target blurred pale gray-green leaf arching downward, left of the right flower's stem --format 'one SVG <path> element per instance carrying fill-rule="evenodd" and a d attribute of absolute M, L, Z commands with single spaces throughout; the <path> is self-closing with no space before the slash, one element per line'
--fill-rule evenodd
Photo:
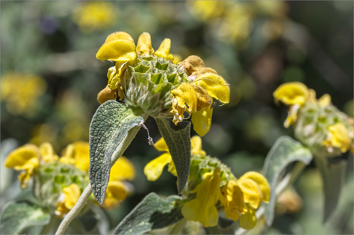
<path fill-rule="evenodd" d="M 268 226 L 272 225 L 274 219 L 276 186 L 281 172 L 291 162 L 301 161 L 307 165 L 311 162 L 311 159 L 310 150 L 288 136 L 279 137 L 269 150 L 263 170 L 264 176 L 270 184 L 269 203 L 264 203 L 264 215 Z"/>

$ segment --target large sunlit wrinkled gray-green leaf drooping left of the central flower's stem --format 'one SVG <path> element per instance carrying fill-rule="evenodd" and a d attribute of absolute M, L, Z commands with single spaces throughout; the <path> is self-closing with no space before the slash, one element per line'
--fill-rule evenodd
<path fill-rule="evenodd" d="M 109 100 L 101 104 L 93 115 L 90 125 L 89 179 L 93 195 L 101 205 L 109 181 L 111 162 L 114 164 L 135 137 L 139 124 L 144 121 L 142 114 Z"/>

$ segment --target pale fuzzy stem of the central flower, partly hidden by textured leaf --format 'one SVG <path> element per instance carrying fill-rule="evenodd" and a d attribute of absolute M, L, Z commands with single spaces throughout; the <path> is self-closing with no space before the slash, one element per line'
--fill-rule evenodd
<path fill-rule="evenodd" d="M 146 119 L 143 117 L 144 120 Z M 130 129 L 130 131 L 127 133 L 127 135 L 124 137 L 124 139 L 121 141 L 117 149 L 114 151 L 112 155 L 111 162 L 115 162 L 122 154 L 124 151 L 127 149 L 127 147 L 130 145 L 131 141 L 134 139 L 135 135 L 138 133 L 139 129 L 141 126 L 135 126 Z M 56 231 L 55 234 L 64 234 L 65 230 L 68 228 L 69 224 L 72 222 L 72 220 L 79 214 L 81 211 L 82 207 L 87 202 L 87 199 L 89 199 L 90 195 L 92 193 L 92 188 L 91 185 L 87 185 L 85 188 L 84 192 L 81 194 L 78 202 L 74 205 L 73 209 L 69 211 L 69 213 L 65 216 L 63 221 L 58 227 L 58 230 Z"/>

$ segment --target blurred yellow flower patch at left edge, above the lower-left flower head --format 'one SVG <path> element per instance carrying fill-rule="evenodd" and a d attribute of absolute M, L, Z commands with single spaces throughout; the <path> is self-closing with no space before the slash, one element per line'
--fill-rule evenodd
<path fill-rule="evenodd" d="M 39 111 L 39 97 L 47 89 L 45 80 L 33 74 L 10 73 L 1 76 L 0 101 L 12 115 L 32 117 Z"/>

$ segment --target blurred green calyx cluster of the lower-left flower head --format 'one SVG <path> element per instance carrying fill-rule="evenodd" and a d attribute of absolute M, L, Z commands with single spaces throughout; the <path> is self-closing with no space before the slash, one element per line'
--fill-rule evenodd
<path fill-rule="evenodd" d="M 89 183 L 89 175 L 74 165 L 46 163 L 34 173 L 34 194 L 45 206 L 54 210 L 62 189 L 72 183 L 76 183 L 83 191 Z"/>

